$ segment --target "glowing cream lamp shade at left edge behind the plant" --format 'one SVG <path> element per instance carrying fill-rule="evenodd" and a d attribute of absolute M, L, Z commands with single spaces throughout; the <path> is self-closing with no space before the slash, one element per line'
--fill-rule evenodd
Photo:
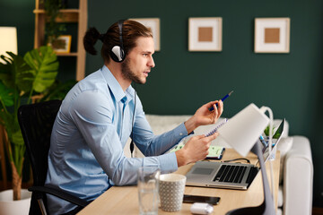
<path fill-rule="evenodd" d="M 0 56 L 7 56 L 6 52 L 17 55 L 17 29 L 15 27 L 0 27 Z M 1 62 L 4 62 L 0 59 Z"/>

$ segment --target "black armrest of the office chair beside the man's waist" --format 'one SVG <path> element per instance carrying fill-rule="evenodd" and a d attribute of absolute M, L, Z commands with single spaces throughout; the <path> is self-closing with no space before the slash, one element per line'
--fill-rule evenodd
<path fill-rule="evenodd" d="M 53 188 L 53 187 L 31 186 L 30 188 L 28 188 L 28 190 L 31 191 L 31 192 L 48 193 L 48 194 L 51 194 L 51 195 L 55 195 L 60 199 L 63 199 L 65 201 L 67 201 L 67 202 L 74 203 L 74 204 L 76 204 L 78 206 L 81 206 L 83 208 L 90 203 L 90 202 L 87 202 L 87 201 L 85 201 L 83 199 L 75 197 L 74 195 L 72 195 L 70 193 L 66 193 L 65 191 L 58 190 L 58 189 Z"/>

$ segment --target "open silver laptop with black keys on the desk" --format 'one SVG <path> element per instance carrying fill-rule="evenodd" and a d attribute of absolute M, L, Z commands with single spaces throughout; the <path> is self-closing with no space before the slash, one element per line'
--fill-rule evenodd
<path fill-rule="evenodd" d="M 264 161 L 273 156 L 277 145 L 284 133 L 285 119 L 281 122 L 273 135 L 272 153 L 268 152 L 268 145 L 263 145 Z M 259 164 L 233 162 L 197 161 L 187 173 L 186 185 L 206 186 L 215 188 L 228 188 L 247 190 L 259 171 Z"/>

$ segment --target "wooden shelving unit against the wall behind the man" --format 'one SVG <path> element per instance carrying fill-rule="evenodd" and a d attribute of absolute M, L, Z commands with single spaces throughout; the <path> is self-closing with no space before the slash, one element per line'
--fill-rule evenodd
<path fill-rule="evenodd" d="M 83 48 L 83 36 L 87 29 L 87 0 L 79 0 L 78 9 L 62 9 L 59 11 L 62 16 L 57 18 L 56 22 L 78 23 L 77 49 L 76 52 L 57 54 L 57 56 L 76 57 L 76 81 L 81 81 L 85 76 L 85 50 Z M 36 0 L 35 13 L 35 40 L 34 47 L 45 45 L 45 23 L 46 13 L 40 0 Z"/>

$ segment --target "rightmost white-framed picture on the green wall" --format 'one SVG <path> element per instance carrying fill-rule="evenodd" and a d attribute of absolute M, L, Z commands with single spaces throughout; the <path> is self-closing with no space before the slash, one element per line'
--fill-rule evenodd
<path fill-rule="evenodd" d="M 255 52 L 289 53 L 290 18 L 256 18 Z"/>

